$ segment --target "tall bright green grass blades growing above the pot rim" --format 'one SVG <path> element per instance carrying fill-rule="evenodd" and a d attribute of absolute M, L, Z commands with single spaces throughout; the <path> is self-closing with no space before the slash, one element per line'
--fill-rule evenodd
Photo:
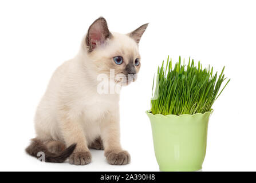
<path fill-rule="evenodd" d="M 172 59 L 164 61 L 158 67 L 156 83 L 153 79 L 151 113 L 152 114 L 195 114 L 210 112 L 211 107 L 227 86 L 220 90 L 225 81 L 223 74 L 225 67 L 219 77 L 217 72 L 213 74 L 213 67 L 203 69 L 200 61 L 195 65 L 194 59 L 188 61 L 188 65 L 179 62 L 172 67 Z M 155 83 L 155 87 L 154 87 Z M 158 90 L 157 90 L 158 89 Z"/>

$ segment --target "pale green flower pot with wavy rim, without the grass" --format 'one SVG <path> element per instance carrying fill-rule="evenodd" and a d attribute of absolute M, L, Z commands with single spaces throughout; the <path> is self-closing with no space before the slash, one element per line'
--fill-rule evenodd
<path fill-rule="evenodd" d="M 152 126 L 156 161 L 160 171 L 202 169 L 206 155 L 208 121 L 212 112 L 180 116 L 146 112 Z"/>

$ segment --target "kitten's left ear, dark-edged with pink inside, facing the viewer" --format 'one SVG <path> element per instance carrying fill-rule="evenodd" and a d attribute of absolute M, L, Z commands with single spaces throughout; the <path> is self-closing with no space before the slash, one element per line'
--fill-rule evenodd
<path fill-rule="evenodd" d="M 106 39 L 111 37 L 111 32 L 108 30 L 107 21 L 100 17 L 90 25 L 85 38 L 88 51 L 92 52 L 97 46 L 103 44 Z"/>

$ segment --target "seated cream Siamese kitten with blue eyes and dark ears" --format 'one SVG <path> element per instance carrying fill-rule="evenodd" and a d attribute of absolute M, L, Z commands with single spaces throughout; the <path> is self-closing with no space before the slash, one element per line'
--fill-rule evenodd
<path fill-rule="evenodd" d="M 136 78 L 138 43 L 147 26 L 119 34 L 110 32 L 102 17 L 90 25 L 76 57 L 58 67 L 50 80 L 37 108 L 37 137 L 26 148 L 28 154 L 43 152 L 46 162 L 69 157 L 70 164 L 85 165 L 92 159 L 89 148 L 94 148 L 104 149 L 109 164 L 129 164 L 129 153 L 120 144 L 119 93 L 99 92 L 99 75 L 107 76 L 105 86 Z"/>

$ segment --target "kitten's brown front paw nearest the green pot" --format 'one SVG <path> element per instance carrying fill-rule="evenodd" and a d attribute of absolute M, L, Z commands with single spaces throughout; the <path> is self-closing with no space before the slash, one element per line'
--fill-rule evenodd
<path fill-rule="evenodd" d="M 105 152 L 105 157 L 107 158 L 108 163 L 111 165 L 127 165 L 131 161 L 130 154 L 127 151 Z"/>

